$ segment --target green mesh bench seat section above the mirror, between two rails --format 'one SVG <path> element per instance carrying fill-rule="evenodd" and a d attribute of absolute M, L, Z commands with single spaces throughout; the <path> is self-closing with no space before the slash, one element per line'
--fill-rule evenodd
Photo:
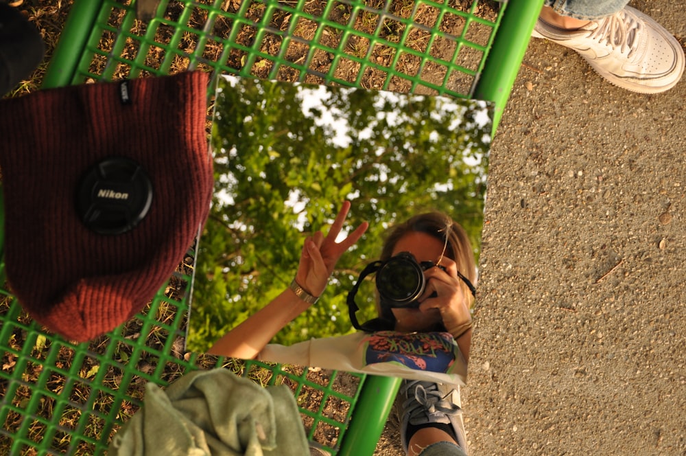
<path fill-rule="evenodd" d="M 132 5 L 104 1 L 82 12 L 95 26 L 66 66 L 70 83 L 207 68 L 466 98 L 500 16 L 493 2 L 456 3 L 163 1 L 141 23 Z"/>

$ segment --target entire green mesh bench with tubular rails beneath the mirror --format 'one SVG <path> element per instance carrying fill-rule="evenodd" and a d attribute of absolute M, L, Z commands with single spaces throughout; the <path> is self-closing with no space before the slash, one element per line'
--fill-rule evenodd
<path fill-rule="evenodd" d="M 75 0 L 43 87 L 204 69 L 491 100 L 495 131 L 542 3 L 163 0 L 143 23 L 134 2 Z M 292 387 L 309 440 L 330 453 L 373 452 L 396 379 L 182 352 L 192 258 L 145 312 L 91 343 L 46 334 L 1 290 L 0 454 L 103 454 L 145 382 L 211 367 Z"/>

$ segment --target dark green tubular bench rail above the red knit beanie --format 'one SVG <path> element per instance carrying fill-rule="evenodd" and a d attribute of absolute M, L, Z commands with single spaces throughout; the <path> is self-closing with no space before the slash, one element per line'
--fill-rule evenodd
<path fill-rule="evenodd" d="M 43 78 L 43 89 L 63 87 L 71 84 L 78 69 L 86 41 L 93 30 L 95 18 L 100 10 L 99 0 L 75 0 L 64 24 L 60 42 Z"/>

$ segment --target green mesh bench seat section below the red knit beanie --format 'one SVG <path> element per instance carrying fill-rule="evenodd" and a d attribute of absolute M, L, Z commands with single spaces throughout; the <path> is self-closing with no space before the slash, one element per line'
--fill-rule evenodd
<path fill-rule="evenodd" d="M 177 273 L 144 313 L 91 343 L 47 334 L 16 302 L 5 302 L 0 453 L 102 454 L 113 431 L 140 407 L 146 382 L 164 386 L 191 369 L 211 367 L 263 385 L 285 383 L 299 402 L 316 391 L 316 406 L 309 400 L 300 407 L 307 436 L 335 453 L 364 376 L 185 354 L 189 281 Z"/>

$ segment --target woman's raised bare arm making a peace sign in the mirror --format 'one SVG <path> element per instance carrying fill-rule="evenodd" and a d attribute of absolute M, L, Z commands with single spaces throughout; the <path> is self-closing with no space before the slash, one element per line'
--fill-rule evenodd
<path fill-rule="evenodd" d="M 305 240 L 295 280 L 311 296 L 319 297 L 322 294 L 338 259 L 362 237 L 368 227 L 368 223 L 364 222 L 347 238 L 336 242 L 350 206 L 348 201 L 343 203 L 326 237 L 321 231 L 317 231 L 314 236 Z M 255 358 L 277 332 L 311 305 L 287 288 L 267 306 L 250 315 L 246 321 L 215 342 L 208 353 L 233 358 Z"/>

